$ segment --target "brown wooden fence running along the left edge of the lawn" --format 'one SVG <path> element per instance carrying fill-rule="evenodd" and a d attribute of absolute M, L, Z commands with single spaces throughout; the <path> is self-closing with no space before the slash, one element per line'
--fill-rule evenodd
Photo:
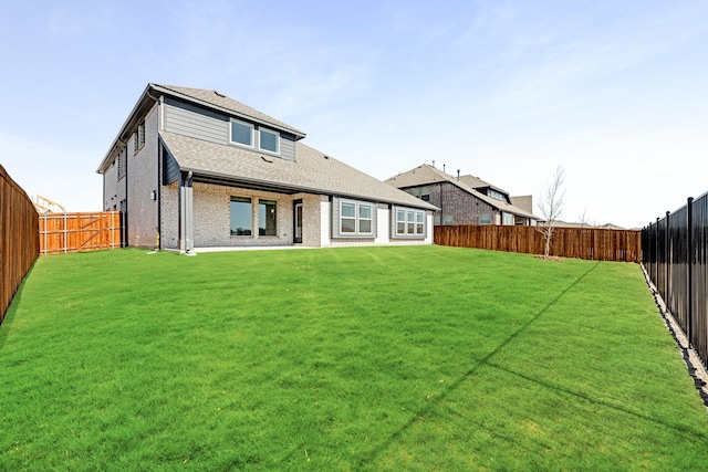
<path fill-rule="evenodd" d="M 39 256 L 34 203 L 0 165 L 0 323 Z"/>

